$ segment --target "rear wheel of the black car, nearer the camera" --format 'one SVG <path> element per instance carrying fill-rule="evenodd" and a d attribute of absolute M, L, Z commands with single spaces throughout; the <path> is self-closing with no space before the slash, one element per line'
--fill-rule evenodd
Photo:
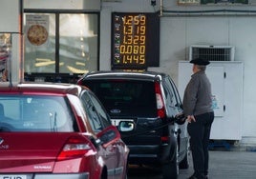
<path fill-rule="evenodd" d="M 176 149 L 175 157 L 169 163 L 162 166 L 162 179 L 177 179 L 179 175 L 178 151 Z"/>

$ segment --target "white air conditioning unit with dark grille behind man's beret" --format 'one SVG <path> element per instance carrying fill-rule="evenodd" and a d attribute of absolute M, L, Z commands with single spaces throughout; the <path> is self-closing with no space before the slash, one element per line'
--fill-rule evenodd
<path fill-rule="evenodd" d="M 192 45 L 189 49 L 189 60 L 204 58 L 209 61 L 234 61 L 233 46 Z"/>

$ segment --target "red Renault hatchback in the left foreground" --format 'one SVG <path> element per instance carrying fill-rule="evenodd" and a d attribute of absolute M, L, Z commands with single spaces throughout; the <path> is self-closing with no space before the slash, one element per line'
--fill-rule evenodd
<path fill-rule="evenodd" d="M 125 179 L 128 154 L 91 90 L 0 84 L 0 179 Z"/>

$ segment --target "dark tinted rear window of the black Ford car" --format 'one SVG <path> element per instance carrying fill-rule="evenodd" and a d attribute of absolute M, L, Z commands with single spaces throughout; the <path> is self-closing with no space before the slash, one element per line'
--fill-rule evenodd
<path fill-rule="evenodd" d="M 92 89 L 110 116 L 156 117 L 154 83 L 139 80 L 88 80 Z"/>

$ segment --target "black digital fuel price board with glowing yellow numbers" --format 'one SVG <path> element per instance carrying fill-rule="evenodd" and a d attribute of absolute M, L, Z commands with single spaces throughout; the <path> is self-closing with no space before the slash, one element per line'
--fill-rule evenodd
<path fill-rule="evenodd" d="M 159 67 L 159 15 L 113 12 L 111 56 L 113 70 L 145 70 L 147 67 Z"/>

